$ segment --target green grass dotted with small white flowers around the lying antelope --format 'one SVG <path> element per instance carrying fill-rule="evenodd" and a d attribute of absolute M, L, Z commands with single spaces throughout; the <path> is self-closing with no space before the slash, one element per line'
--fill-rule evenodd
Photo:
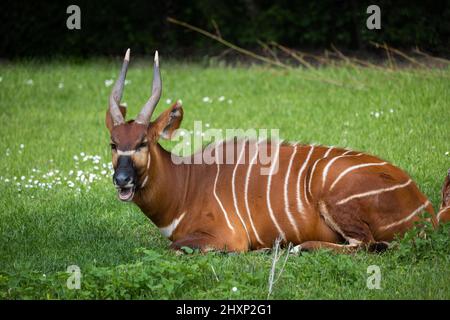
<path fill-rule="evenodd" d="M 75 176 L 77 170 L 98 173 L 109 162 L 104 115 L 111 87 L 104 81 L 115 78 L 119 65 L 0 66 L 0 297 L 266 298 L 270 254 L 177 256 L 136 206 L 116 199 L 108 174 L 87 185 L 69 175 L 70 170 Z M 365 85 L 357 90 L 305 80 L 311 72 L 302 70 L 179 63 L 162 68 L 157 112 L 168 106 L 166 99 L 182 99 L 183 128 L 191 130 L 195 120 L 215 128 L 279 128 L 287 140 L 363 150 L 405 169 L 435 208 L 439 204 L 450 167 L 449 70 L 317 71 L 320 77 Z M 29 79 L 33 85 L 26 84 Z M 133 63 L 128 79 L 123 101 L 134 117 L 150 92 L 150 65 Z M 213 102 L 202 102 L 205 96 Z M 101 159 L 83 161 L 81 152 Z M 53 175 L 44 178 L 49 171 Z M 32 184 L 38 180 L 52 188 L 26 188 L 32 175 Z M 381 255 L 291 256 L 271 298 L 449 299 L 449 239 L 443 228 L 426 240 L 403 240 Z M 65 271 L 73 264 L 83 274 L 81 290 L 66 288 Z M 380 290 L 366 287 L 367 267 L 373 264 L 381 268 Z"/>

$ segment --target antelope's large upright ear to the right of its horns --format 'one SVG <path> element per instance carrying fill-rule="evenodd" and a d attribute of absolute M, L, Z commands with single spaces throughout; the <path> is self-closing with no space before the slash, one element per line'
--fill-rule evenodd
<path fill-rule="evenodd" d="M 173 133 L 180 127 L 183 120 L 183 108 L 181 102 L 177 101 L 173 106 L 164 111 L 151 123 L 150 129 L 156 139 L 169 140 Z"/>

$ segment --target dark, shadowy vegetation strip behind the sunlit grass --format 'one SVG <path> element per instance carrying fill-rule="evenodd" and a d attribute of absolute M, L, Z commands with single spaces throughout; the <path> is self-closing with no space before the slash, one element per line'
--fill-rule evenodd
<path fill-rule="evenodd" d="M 66 28 L 66 8 L 81 8 L 81 30 Z M 381 30 L 368 30 L 366 8 L 381 7 Z M 370 50 L 370 41 L 449 54 L 450 5 L 433 1 L 227 0 L 227 1 L 16 1 L 0 11 L 0 56 L 87 57 L 121 54 L 185 56 L 224 50 L 217 42 L 167 22 L 173 17 L 215 32 L 245 48 L 277 41 L 292 48 Z"/>

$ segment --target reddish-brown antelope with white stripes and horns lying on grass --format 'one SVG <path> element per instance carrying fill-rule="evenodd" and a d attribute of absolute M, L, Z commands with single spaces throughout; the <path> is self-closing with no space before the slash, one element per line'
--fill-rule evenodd
<path fill-rule="evenodd" d="M 437 225 L 430 201 L 404 171 L 362 152 L 234 139 L 198 151 L 209 152 L 212 163 L 175 164 L 177 156 L 158 140 L 179 128 L 181 104 L 150 122 L 162 90 L 156 52 L 152 94 L 137 118 L 125 122 L 120 100 L 129 58 L 128 49 L 106 113 L 113 181 L 119 199 L 136 203 L 171 248 L 247 251 L 271 247 L 281 237 L 305 250 L 377 250 L 411 228 L 423 211 Z M 233 164 L 222 161 L 229 152 L 225 145 L 236 151 Z M 267 175 L 259 170 L 262 148 L 273 159 Z M 448 209 L 448 178 L 445 188 Z M 449 220 L 448 211 L 440 218 Z"/>

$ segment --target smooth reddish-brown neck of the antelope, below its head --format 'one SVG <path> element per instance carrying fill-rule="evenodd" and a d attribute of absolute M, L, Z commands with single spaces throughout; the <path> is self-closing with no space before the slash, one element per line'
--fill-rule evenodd
<path fill-rule="evenodd" d="M 158 228 L 169 225 L 182 214 L 189 179 L 189 166 L 174 164 L 172 154 L 159 144 L 150 147 L 150 166 L 145 186 L 134 202 Z"/>

